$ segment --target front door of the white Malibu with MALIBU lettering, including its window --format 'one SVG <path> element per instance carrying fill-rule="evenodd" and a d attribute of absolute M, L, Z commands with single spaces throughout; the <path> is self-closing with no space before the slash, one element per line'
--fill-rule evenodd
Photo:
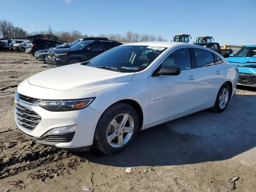
<path fill-rule="evenodd" d="M 195 69 L 192 69 L 189 47 L 175 49 L 169 53 L 156 70 L 171 66 L 180 68 L 180 74 L 148 78 L 151 124 L 189 113 L 198 108 L 195 82 L 197 73 Z"/>

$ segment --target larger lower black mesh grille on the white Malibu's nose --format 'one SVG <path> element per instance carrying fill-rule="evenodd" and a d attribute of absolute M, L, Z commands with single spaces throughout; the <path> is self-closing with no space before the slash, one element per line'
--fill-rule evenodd
<path fill-rule="evenodd" d="M 29 131 L 36 128 L 41 121 L 41 116 L 38 113 L 19 104 L 15 104 L 15 115 L 17 124 Z"/>

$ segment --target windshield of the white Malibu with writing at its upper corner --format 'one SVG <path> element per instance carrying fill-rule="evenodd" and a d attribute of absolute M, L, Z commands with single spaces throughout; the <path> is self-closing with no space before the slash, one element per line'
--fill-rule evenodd
<path fill-rule="evenodd" d="M 121 73 L 138 72 L 147 68 L 165 49 L 166 47 L 158 46 L 119 46 L 83 64 L 91 67 L 115 67 Z"/>

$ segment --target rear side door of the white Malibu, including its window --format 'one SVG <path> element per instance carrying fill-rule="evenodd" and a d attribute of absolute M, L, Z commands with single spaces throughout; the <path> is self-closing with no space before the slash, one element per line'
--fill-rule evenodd
<path fill-rule="evenodd" d="M 192 60 L 195 60 L 197 70 L 198 97 L 200 108 L 205 108 L 215 102 L 218 90 L 224 81 L 224 71 L 215 65 L 215 53 L 201 48 L 192 48 Z"/>

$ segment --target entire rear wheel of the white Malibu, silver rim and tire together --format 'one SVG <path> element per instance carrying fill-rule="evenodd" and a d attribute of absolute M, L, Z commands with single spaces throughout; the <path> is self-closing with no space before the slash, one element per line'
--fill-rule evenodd
<path fill-rule="evenodd" d="M 218 92 L 215 104 L 212 107 L 212 111 L 216 113 L 221 113 L 225 111 L 230 100 L 231 94 L 232 93 L 230 91 L 230 87 L 228 86 L 227 83 L 224 83 Z"/>

